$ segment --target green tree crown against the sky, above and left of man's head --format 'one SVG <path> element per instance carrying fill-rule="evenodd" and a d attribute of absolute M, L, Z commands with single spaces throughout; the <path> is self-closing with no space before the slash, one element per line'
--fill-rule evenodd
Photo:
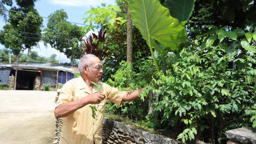
<path fill-rule="evenodd" d="M 68 15 L 64 10 L 57 10 L 48 16 L 47 27 L 44 29 L 44 40 L 51 47 L 64 53 L 71 60 L 81 56 L 81 39 L 84 36 L 82 27 L 67 22 Z M 60 19 L 55 20 L 55 19 Z"/>

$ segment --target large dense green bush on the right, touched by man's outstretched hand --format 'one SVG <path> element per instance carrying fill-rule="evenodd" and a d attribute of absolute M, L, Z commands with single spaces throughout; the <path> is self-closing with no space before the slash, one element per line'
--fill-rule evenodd
<path fill-rule="evenodd" d="M 184 48 L 154 80 L 160 85 L 153 89 L 160 101 L 153 104 L 153 115 L 162 119 L 153 123 L 180 133 L 183 142 L 223 143 L 227 130 L 256 127 L 255 54 L 240 46 L 242 55 L 233 57 L 227 51 L 233 47 L 218 45 L 212 37 L 205 38 L 203 47 L 195 42 Z"/>

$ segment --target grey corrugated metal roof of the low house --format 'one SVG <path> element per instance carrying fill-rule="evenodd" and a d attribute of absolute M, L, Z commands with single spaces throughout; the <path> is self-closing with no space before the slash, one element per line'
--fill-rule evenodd
<path fill-rule="evenodd" d="M 69 64 L 52 64 L 52 63 L 19 63 L 19 64 L 1 64 L 0 67 L 10 68 L 36 68 L 36 69 L 49 69 L 72 72 L 73 66 Z"/>

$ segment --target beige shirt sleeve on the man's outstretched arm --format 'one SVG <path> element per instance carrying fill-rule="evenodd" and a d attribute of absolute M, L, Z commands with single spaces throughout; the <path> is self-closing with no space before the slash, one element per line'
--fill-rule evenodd
<path fill-rule="evenodd" d="M 115 103 L 115 104 L 118 104 L 118 105 L 122 105 L 123 103 L 123 97 L 126 93 L 126 91 L 118 91 L 117 88 L 114 88 L 114 87 L 111 87 L 107 84 L 105 84 L 106 87 L 106 99 Z"/>

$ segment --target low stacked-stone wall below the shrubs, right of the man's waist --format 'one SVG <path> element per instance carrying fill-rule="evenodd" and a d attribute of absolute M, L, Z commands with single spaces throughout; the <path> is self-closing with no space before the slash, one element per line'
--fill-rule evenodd
<path fill-rule="evenodd" d="M 175 139 L 167 138 L 146 130 L 122 124 L 118 121 L 104 118 L 102 128 L 103 144 L 181 144 Z"/>

